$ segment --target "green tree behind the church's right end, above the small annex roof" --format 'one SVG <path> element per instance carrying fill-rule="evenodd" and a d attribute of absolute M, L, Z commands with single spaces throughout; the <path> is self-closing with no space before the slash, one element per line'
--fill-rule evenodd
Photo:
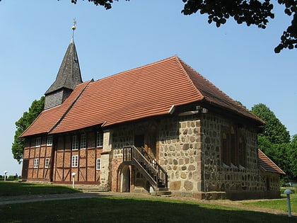
<path fill-rule="evenodd" d="M 262 135 L 268 137 L 270 142 L 274 144 L 290 142 L 289 131 L 266 105 L 262 103 L 254 105 L 252 113 L 262 118 L 266 123 Z"/>

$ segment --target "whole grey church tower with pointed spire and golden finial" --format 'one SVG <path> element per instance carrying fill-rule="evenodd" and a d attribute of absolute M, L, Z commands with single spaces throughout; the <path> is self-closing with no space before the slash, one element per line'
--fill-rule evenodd
<path fill-rule="evenodd" d="M 74 21 L 74 26 L 72 26 L 72 38 L 59 68 L 56 80 L 45 92 L 45 110 L 61 105 L 74 90 L 76 85 L 83 82 L 81 79 L 81 69 L 79 68 L 76 46 L 74 44 L 75 25 L 76 21 Z"/>

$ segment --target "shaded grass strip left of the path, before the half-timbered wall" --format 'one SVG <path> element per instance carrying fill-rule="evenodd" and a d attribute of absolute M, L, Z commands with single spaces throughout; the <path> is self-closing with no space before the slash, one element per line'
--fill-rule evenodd
<path fill-rule="evenodd" d="M 0 196 L 39 195 L 54 193 L 78 193 L 79 191 L 61 185 L 0 182 Z M 0 219 L 1 221 L 1 219 Z"/>

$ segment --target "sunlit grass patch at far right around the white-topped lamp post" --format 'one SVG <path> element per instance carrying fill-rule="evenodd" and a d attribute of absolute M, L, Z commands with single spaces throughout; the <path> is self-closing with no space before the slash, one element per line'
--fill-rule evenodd
<path fill-rule="evenodd" d="M 282 199 L 274 200 L 261 200 L 257 202 L 243 202 L 243 205 L 249 205 L 250 207 L 262 207 L 274 210 L 288 211 L 286 195 L 281 196 Z M 297 194 L 290 195 L 291 211 L 297 213 Z"/>

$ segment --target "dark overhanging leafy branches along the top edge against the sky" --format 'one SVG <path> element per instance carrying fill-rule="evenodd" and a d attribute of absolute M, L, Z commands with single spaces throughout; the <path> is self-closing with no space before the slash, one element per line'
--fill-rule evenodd
<path fill-rule="evenodd" d="M 1 1 L 1 0 L 0 0 Z M 59 0 L 58 0 L 59 1 Z M 113 0 L 88 0 L 96 6 L 112 8 Z M 118 0 L 115 0 L 118 1 Z M 126 0 L 129 1 L 129 0 Z M 274 4 L 271 0 L 182 0 L 185 5 L 182 9 L 184 15 L 201 13 L 209 15 L 209 23 L 216 23 L 219 27 L 232 17 L 238 24 L 257 25 L 259 28 L 266 28 L 269 18 L 274 18 L 272 10 Z M 71 0 L 76 4 L 77 0 Z M 297 0 L 278 0 L 278 4 L 284 5 L 284 13 L 293 16 L 291 25 L 281 35 L 281 42 L 274 48 L 279 53 L 284 48 L 297 48 Z"/>

